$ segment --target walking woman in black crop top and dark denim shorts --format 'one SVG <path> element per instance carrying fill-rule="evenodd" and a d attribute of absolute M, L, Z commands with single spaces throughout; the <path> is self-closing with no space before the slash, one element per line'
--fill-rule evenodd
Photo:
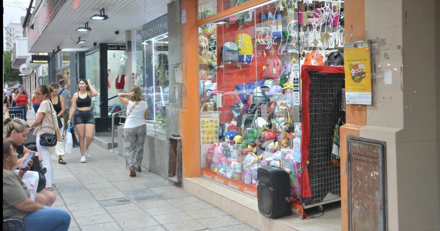
<path fill-rule="evenodd" d="M 81 163 L 85 163 L 85 157 L 90 157 L 89 146 L 92 143 L 95 131 L 95 118 L 92 111 L 92 97 L 98 95 L 96 89 L 90 84 L 90 79 L 78 81 L 78 91 L 72 97 L 72 108 L 69 112 L 69 125 L 73 124 L 78 133 L 79 150 L 81 151 Z M 85 140 L 85 145 L 84 145 Z"/>

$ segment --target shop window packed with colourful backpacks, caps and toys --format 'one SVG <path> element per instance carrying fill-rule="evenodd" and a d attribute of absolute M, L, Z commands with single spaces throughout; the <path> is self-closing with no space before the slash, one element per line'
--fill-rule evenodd
<path fill-rule="evenodd" d="M 342 4 L 276 1 L 200 26 L 203 176 L 256 196 L 257 169 L 272 165 L 290 171 L 293 198 L 304 199 L 304 192 L 311 197 L 304 190 L 310 188 L 309 175 L 301 156 L 300 70 L 343 65 Z M 200 18 L 207 16 L 201 12 Z M 332 86 L 336 95 L 343 87 Z M 345 117 L 334 114 L 336 121 L 328 123 L 337 134 Z M 338 156 L 327 149 L 329 164 L 338 166 Z"/>

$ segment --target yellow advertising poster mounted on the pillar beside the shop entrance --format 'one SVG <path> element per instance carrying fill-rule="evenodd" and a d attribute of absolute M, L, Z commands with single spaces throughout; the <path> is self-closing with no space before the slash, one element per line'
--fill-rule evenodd
<path fill-rule="evenodd" d="M 345 102 L 371 105 L 370 47 L 345 48 Z"/>

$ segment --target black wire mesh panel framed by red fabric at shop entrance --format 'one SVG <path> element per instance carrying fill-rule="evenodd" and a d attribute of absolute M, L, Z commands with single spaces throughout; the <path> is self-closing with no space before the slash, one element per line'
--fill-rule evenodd
<path fill-rule="evenodd" d="M 331 140 L 339 118 L 345 122 L 345 112 L 339 110 L 344 74 L 310 72 L 310 154 L 309 179 L 311 204 L 333 202 L 341 195 L 340 167 L 332 162 Z"/>

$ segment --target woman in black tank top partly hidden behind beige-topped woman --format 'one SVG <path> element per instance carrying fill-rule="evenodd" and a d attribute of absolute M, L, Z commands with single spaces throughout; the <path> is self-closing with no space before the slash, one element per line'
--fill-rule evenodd
<path fill-rule="evenodd" d="M 64 118 L 62 118 L 65 108 L 64 108 L 64 97 L 61 95 L 58 95 L 58 84 L 57 83 L 51 83 L 49 86 L 50 92 L 51 92 L 51 102 L 54 106 L 54 109 L 56 111 L 56 117 L 58 121 L 58 128 L 60 131 L 63 130 L 64 127 Z M 58 155 L 58 164 L 65 165 L 65 161 L 62 159 L 65 151 L 64 151 L 64 143 L 63 141 L 58 141 L 55 146 L 56 154 Z"/>

